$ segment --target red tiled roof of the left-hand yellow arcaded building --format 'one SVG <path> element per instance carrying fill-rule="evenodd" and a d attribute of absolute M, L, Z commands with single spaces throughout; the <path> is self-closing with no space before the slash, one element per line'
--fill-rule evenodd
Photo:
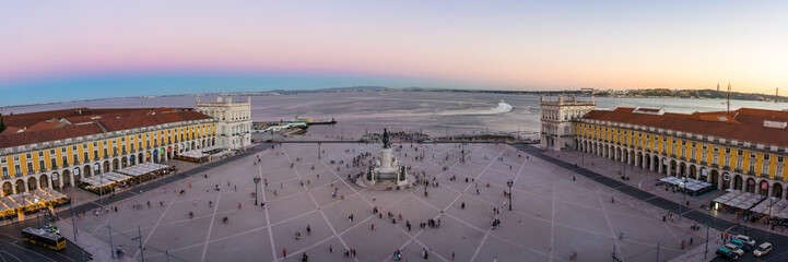
<path fill-rule="evenodd" d="M 62 118 L 72 124 L 51 121 Z M 102 128 L 113 132 L 210 118 L 197 111 L 172 108 L 75 108 L 10 115 L 3 116 L 8 129 L 0 134 L 0 148 L 98 134 L 104 132 Z M 15 132 L 19 130 L 24 131 Z"/>

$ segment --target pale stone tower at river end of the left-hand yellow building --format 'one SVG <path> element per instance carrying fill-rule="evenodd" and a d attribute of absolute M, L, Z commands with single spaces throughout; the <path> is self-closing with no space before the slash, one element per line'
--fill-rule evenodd
<path fill-rule="evenodd" d="M 251 97 L 233 102 L 220 96 L 215 103 L 201 103 L 198 96 L 197 111 L 216 119 L 216 145 L 240 150 L 251 144 Z"/>

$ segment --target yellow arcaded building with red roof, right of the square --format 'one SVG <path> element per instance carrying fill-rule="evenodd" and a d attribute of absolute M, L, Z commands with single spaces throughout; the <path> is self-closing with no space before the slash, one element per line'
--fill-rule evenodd
<path fill-rule="evenodd" d="M 593 110 L 574 123 L 575 148 L 666 176 L 786 198 L 788 111 L 670 114 Z"/>

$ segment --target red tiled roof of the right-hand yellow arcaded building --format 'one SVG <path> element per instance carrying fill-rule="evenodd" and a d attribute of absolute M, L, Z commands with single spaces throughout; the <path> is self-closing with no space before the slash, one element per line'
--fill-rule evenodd
<path fill-rule="evenodd" d="M 726 112 L 649 115 L 634 108 L 592 110 L 583 119 L 631 123 L 755 143 L 788 146 L 788 129 L 767 128 L 764 121 L 788 122 L 788 111 L 741 108 Z"/>

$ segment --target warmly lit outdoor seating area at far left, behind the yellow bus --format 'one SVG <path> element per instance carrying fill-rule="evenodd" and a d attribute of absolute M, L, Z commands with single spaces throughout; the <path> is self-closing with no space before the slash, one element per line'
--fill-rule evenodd
<path fill-rule="evenodd" d="M 17 216 L 19 211 L 31 214 L 50 205 L 57 207 L 68 202 L 66 194 L 51 188 L 5 195 L 0 198 L 0 219 L 12 219 Z"/>

